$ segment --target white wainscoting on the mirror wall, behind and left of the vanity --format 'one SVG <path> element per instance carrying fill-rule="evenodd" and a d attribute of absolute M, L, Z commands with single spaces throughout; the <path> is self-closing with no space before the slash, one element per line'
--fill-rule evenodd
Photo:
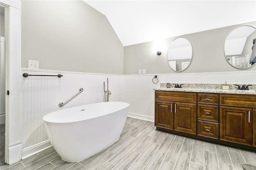
<path fill-rule="evenodd" d="M 129 116 L 154 121 L 154 88 L 160 83 L 256 84 L 256 71 L 174 73 L 154 75 L 124 75 L 123 99 L 129 103 Z"/>

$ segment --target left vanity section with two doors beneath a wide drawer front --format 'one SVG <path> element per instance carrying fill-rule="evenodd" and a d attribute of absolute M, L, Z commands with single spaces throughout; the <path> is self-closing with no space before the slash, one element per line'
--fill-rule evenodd
<path fill-rule="evenodd" d="M 196 134 L 196 93 L 155 91 L 155 126 Z"/>

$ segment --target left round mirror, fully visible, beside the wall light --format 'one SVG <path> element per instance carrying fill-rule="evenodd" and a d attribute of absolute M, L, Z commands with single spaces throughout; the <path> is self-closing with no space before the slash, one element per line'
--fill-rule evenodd
<path fill-rule="evenodd" d="M 167 52 L 169 66 L 174 71 L 183 71 L 190 65 L 192 46 L 186 38 L 176 38 L 170 44 Z"/>

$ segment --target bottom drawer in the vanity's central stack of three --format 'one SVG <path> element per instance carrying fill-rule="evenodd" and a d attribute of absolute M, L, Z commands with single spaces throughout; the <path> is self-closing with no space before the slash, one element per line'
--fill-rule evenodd
<path fill-rule="evenodd" d="M 210 138 L 218 139 L 219 136 L 219 123 L 198 121 L 197 133 L 198 136 L 206 136 Z"/>

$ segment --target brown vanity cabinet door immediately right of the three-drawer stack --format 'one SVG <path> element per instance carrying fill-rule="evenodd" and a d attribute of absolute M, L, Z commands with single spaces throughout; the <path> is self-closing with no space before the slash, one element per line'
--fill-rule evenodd
<path fill-rule="evenodd" d="M 252 145 L 252 109 L 220 107 L 220 140 Z"/>

